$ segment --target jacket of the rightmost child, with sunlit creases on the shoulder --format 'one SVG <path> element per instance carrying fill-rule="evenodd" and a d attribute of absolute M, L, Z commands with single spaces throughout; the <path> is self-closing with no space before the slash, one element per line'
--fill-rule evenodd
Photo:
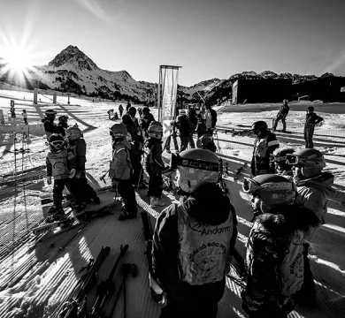
<path fill-rule="evenodd" d="M 327 203 L 329 198 L 335 196 L 335 190 L 332 188 L 334 184 L 334 175 L 329 172 L 322 172 L 318 176 L 300 180 L 294 178 L 297 186 L 298 195 L 296 202 L 302 204 L 318 217 L 319 225 L 327 221 Z M 311 231 L 308 240 L 311 240 L 315 231 Z"/>

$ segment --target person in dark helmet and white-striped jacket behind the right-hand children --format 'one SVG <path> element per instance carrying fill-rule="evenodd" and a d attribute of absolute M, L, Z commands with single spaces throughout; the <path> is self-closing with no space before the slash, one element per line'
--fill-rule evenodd
<path fill-rule="evenodd" d="M 261 120 L 251 125 L 251 130 L 257 135 L 250 164 L 251 174 L 258 176 L 274 172 L 270 165 L 270 159 L 274 149 L 280 146 L 275 134 L 271 133 L 265 121 Z"/>

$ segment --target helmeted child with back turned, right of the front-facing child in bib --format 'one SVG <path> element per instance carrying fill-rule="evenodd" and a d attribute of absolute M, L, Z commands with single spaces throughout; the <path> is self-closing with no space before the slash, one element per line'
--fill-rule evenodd
<path fill-rule="evenodd" d="M 76 173 L 72 180 L 73 192 L 77 193 L 78 202 L 76 202 L 76 208 L 83 208 L 83 203 L 87 201 L 93 201 L 99 204 L 101 201 L 96 194 L 96 191 L 92 186 L 88 184 L 88 178 L 86 178 L 85 163 L 87 144 L 82 138 L 83 134 L 79 127 L 69 127 L 65 131 L 66 139 L 68 140 L 68 148 L 73 151 L 76 162 Z M 79 206 L 79 207 L 78 207 Z"/>

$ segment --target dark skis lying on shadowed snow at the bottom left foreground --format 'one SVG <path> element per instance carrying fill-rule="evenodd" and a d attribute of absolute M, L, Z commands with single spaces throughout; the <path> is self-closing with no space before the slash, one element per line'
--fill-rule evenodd
<path fill-rule="evenodd" d="M 103 261 L 106 259 L 108 254 L 111 251 L 109 246 L 103 248 L 98 255 L 95 262 L 92 263 L 91 269 L 88 270 L 88 275 L 86 278 L 77 283 L 81 284 L 79 292 L 75 293 L 76 288 L 74 288 L 72 294 L 69 295 L 67 301 L 65 301 L 64 307 L 61 308 L 58 317 L 59 318 L 86 318 L 86 317 L 104 317 L 105 316 L 105 305 L 107 304 L 109 297 L 111 296 L 112 292 L 114 291 L 114 283 L 112 282 L 112 278 L 115 275 L 119 267 L 119 262 L 122 261 L 126 255 L 126 251 L 128 249 L 128 245 L 120 246 L 119 256 L 115 261 L 111 273 L 109 276 L 102 281 L 101 283 L 97 284 L 95 280 L 98 278 L 98 272 L 103 264 Z M 96 279 L 95 279 L 96 278 Z M 97 284 L 96 286 L 96 300 L 93 307 L 88 311 L 88 292 L 92 289 L 92 286 Z M 74 294 L 75 293 L 75 294 Z M 114 310 L 114 307 L 111 308 L 111 314 Z"/>

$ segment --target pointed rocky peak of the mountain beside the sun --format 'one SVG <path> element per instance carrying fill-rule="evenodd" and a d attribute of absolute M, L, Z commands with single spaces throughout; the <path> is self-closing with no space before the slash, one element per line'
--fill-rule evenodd
<path fill-rule="evenodd" d="M 98 66 L 89 58 L 86 54 L 80 51 L 78 47 L 69 45 L 63 49 L 50 63 L 48 66 L 55 68 L 64 68 L 72 66 L 79 70 L 98 70 Z"/>

